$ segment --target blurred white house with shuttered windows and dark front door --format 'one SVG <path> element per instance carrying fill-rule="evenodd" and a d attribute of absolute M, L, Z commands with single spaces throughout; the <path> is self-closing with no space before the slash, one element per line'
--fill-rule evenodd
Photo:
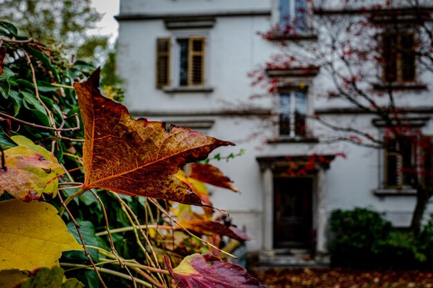
<path fill-rule="evenodd" d="M 355 124 L 378 138 L 385 133 L 375 115 L 341 99 L 320 97 L 333 85 L 322 69 L 306 64 L 270 68 L 266 77 L 279 79 L 277 90 L 268 93 L 269 97 L 253 99 L 267 91 L 260 84 L 252 86 L 248 74 L 282 49 L 279 41 L 266 40 L 258 32 L 267 32 L 278 23 L 293 23 L 296 13 L 306 7 L 308 12 L 293 26 L 297 36 L 286 35 L 288 42 L 315 45 L 321 41 L 324 27 L 315 27 L 318 38 L 307 29 L 313 26 L 313 16 L 306 2 L 122 0 L 117 17 L 118 73 L 125 79 L 125 104 L 131 114 L 237 143 L 219 148 L 215 153 L 221 155 L 245 149 L 244 155 L 228 162 L 212 162 L 232 178 L 241 194 L 210 187 L 211 199 L 254 238 L 247 244 L 248 251 L 259 253 L 264 262 L 294 248 L 310 249 L 315 256 L 326 254 L 327 221 L 333 209 L 372 207 L 396 226 L 407 227 L 416 201 L 415 190 L 398 169 L 406 161 L 402 155 L 350 142 L 329 144 L 326 126 L 303 117 L 318 114 L 334 125 Z M 365 2 L 380 2 L 385 7 L 386 1 Z M 395 5 L 387 9 L 392 11 Z M 341 6 L 326 9 L 335 11 Z M 403 63 L 400 54 L 394 63 L 386 69 L 397 74 L 390 81 L 400 85 L 396 106 L 410 110 L 412 126 L 433 135 L 433 99 L 426 89 L 431 88 L 432 75 L 418 68 L 416 60 L 412 61 L 414 68 Z M 365 67 L 377 71 L 375 77 L 385 69 L 367 63 Z M 334 159 L 340 152 L 347 159 Z M 306 173 L 291 173 L 293 165 L 304 165 L 313 155 L 322 155 L 325 161 L 316 162 Z"/>

